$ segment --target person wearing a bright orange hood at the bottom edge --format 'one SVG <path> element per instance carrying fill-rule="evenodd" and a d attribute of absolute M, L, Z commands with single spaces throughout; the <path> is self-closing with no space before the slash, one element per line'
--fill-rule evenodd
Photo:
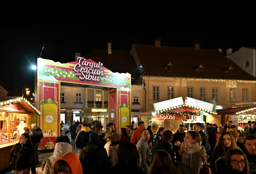
<path fill-rule="evenodd" d="M 53 174 L 58 173 L 82 174 L 81 163 L 75 152 L 68 152 L 56 160 L 53 167 Z"/>

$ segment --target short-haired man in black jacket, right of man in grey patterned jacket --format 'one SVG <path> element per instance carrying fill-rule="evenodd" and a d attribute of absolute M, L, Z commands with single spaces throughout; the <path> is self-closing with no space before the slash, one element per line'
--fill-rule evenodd
<path fill-rule="evenodd" d="M 167 131 L 163 132 L 162 140 L 160 140 L 160 139 L 157 140 L 157 143 L 155 143 L 155 145 L 152 149 L 151 163 L 154 159 L 154 155 L 155 155 L 156 151 L 165 150 L 166 152 L 168 152 L 168 154 L 170 154 L 172 162 L 174 164 L 175 155 L 174 155 L 174 151 L 172 149 L 172 145 L 170 144 L 170 142 L 172 142 L 172 139 L 173 139 L 172 131 L 167 130 Z"/>

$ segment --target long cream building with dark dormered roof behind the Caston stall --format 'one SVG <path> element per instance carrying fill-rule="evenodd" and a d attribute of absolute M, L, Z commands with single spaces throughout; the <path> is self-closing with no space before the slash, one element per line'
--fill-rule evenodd
<path fill-rule="evenodd" d="M 177 97 L 206 102 L 215 98 L 217 110 L 256 99 L 256 78 L 219 50 L 200 49 L 200 42 L 195 42 L 195 48 L 161 46 L 159 39 L 156 42 L 132 47 L 137 66 L 142 66 L 139 71 L 144 85 L 132 86 L 133 99 L 138 97 L 144 105 L 140 111 L 154 111 L 153 103 Z"/>

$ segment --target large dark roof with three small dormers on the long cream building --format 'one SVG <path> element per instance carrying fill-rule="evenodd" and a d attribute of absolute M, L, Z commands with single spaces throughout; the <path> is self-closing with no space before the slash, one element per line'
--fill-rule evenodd
<path fill-rule="evenodd" d="M 139 44 L 133 44 L 132 49 L 139 57 L 140 63 L 137 64 L 142 65 L 143 69 L 140 70 L 144 71 L 143 76 L 256 80 L 218 50 Z M 172 72 L 164 68 L 169 63 L 173 65 Z M 195 70 L 201 64 L 203 73 Z M 225 72 L 230 66 L 233 67 L 233 75 Z"/>

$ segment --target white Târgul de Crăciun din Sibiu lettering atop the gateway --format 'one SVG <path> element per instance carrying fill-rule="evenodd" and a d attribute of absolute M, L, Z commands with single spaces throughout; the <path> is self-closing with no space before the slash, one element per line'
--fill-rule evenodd
<path fill-rule="evenodd" d="M 94 63 L 89 62 L 83 57 L 78 57 L 78 63 L 74 65 L 74 71 L 76 72 L 76 76 L 79 77 L 80 80 L 88 81 L 88 82 L 100 82 L 100 76 L 104 76 L 102 63 Z"/>

